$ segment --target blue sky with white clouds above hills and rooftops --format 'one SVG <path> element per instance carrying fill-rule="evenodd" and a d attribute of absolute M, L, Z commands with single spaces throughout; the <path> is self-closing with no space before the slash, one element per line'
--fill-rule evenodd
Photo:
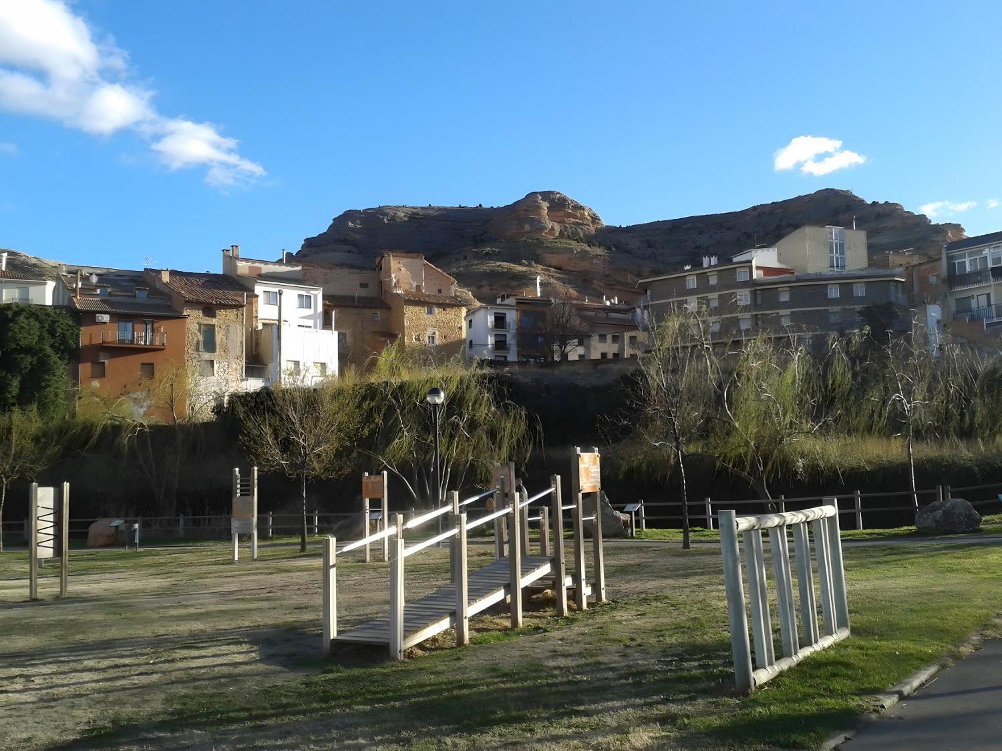
<path fill-rule="evenodd" d="M 1002 229 L 997 3 L 687 5 L 0 0 L 0 246 L 218 270 L 540 189 L 610 224 L 838 187 Z"/>

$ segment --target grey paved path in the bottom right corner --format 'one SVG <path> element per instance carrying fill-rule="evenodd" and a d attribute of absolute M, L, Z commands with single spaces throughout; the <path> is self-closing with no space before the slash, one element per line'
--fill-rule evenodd
<path fill-rule="evenodd" d="M 842 751 L 998 751 L 1002 748 L 1002 640 L 941 672 L 839 746 Z"/>

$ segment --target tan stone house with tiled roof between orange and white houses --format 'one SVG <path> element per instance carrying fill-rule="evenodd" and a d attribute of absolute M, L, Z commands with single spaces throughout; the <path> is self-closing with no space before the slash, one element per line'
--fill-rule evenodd
<path fill-rule="evenodd" d="M 244 347 L 257 295 L 221 273 L 146 269 L 146 278 L 185 315 L 189 412 L 207 417 L 214 405 L 246 388 Z"/>

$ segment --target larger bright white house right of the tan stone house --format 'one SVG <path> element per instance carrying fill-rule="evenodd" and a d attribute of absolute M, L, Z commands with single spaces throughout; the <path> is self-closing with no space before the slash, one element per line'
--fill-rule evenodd
<path fill-rule="evenodd" d="M 244 389 L 284 383 L 317 384 L 339 372 L 338 332 L 324 327 L 324 290 L 302 280 L 302 268 L 241 258 L 239 245 L 222 250 L 222 272 L 258 296 L 247 329 Z"/>

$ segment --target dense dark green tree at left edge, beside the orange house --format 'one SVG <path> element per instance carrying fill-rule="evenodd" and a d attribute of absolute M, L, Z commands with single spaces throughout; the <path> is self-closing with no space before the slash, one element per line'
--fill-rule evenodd
<path fill-rule="evenodd" d="M 65 310 L 0 305 L 0 410 L 37 406 L 44 414 L 69 406 L 70 360 L 80 329 Z"/>

